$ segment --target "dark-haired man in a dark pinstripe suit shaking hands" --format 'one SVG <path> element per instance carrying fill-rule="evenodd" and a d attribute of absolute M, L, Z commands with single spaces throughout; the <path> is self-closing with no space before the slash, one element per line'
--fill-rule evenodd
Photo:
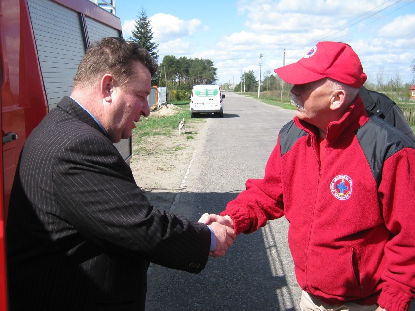
<path fill-rule="evenodd" d="M 144 310 L 149 262 L 198 273 L 233 243 L 229 227 L 150 206 L 113 145 L 150 114 L 156 71 L 137 44 L 102 39 L 27 139 L 7 223 L 10 310 Z"/>

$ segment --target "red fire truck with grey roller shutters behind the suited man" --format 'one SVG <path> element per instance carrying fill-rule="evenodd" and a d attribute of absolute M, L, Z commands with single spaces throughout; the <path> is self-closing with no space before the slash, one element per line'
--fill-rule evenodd
<path fill-rule="evenodd" d="M 103 37 L 122 37 L 113 2 L 0 0 L 0 311 L 8 310 L 5 232 L 20 151 L 33 128 L 71 93 L 86 49 Z M 128 162 L 131 139 L 116 146 Z"/>

